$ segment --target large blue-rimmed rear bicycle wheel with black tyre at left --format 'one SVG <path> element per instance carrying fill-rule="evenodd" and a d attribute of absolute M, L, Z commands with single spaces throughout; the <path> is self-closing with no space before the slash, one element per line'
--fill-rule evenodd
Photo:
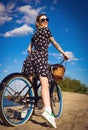
<path fill-rule="evenodd" d="M 4 87 L 0 91 L 0 117 L 6 125 L 19 126 L 26 123 L 32 115 L 34 91 L 24 75 L 12 74 L 8 77 L 1 83 Z"/>

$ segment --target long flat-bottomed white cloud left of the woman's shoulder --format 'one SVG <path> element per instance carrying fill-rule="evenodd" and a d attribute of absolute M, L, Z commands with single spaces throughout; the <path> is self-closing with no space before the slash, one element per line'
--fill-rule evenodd
<path fill-rule="evenodd" d="M 23 25 L 19 28 L 15 28 L 1 35 L 3 35 L 4 37 L 13 37 L 13 36 L 15 37 L 15 36 L 24 36 L 29 33 L 33 33 L 33 28 L 29 27 L 28 25 Z"/>

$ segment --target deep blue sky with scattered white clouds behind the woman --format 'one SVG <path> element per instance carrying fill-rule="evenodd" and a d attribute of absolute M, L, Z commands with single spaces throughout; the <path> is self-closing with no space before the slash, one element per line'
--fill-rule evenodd
<path fill-rule="evenodd" d="M 65 76 L 88 86 L 87 0 L 0 0 L 0 81 L 21 71 L 40 13 L 47 14 L 53 37 L 70 57 Z M 60 61 L 60 53 L 50 44 L 49 63 Z"/>

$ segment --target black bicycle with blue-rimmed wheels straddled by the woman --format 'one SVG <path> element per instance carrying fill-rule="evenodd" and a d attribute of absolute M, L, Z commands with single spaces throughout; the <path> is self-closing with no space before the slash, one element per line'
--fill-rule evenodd
<path fill-rule="evenodd" d="M 64 60 L 63 60 L 64 61 Z M 61 64 L 63 63 L 61 62 Z M 61 64 L 50 65 L 53 70 L 54 78 L 57 74 L 54 70 L 64 68 Z M 59 78 L 62 78 L 59 76 Z M 33 78 L 33 82 L 22 73 L 12 73 L 5 77 L 0 84 L 0 117 L 1 120 L 9 126 L 19 126 L 25 124 L 37 108 L 43 108 L 43 102 L 39 89 L 40 81 L 37 77 Z M 56 118 L 60 118 L 62 114 L 63 102 L 60 86 L 55 79 L 49 83 L 51 107 Z M 26 114 L 21 117 L 23 109 L 26 108 Z"/>

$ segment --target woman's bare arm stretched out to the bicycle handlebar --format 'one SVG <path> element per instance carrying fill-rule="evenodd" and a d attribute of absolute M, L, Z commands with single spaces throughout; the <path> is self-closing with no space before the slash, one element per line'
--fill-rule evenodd
<path fill-rule="evenodd" d="M 63 51 L 63 49 L 60 47 L 60 45 L 55 41 L 55 39 L 53 37 L 50 37 L 50 41 L 53 43 L 53 45 L 56 47 L 56 49 L 62 53 L 62 55 L 64 56 L 64 58 L 67 60 L 68 57 L 66 56 L 65 52 Z"/>

